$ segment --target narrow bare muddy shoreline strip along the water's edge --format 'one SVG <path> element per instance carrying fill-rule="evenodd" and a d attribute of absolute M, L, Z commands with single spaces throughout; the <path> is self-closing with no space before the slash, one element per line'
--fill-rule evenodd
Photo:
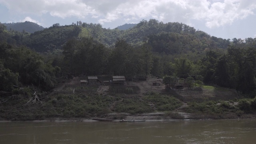
<path fill-rule="evenodd" d="M 231 116 L 232 115 L 232 116 Z M 128 113 L 110 113 L 105 115 L 96 115 L 90 118 L 46 118 L 42 120 L 25 120 L 30 122 L 96 122 L 93 118 L 113 120 L 112 122 L 119 122 L 120 120 L 146 120 L 146 121 L 180 121 L 180 120 L 230 120 L 230 119 L 253 119 L 256 114 L 243 114 L 242 116 L 223 115 L 223 118 L 212 118 L 205 115 L 189 114 L 186 112 L 172 112 L 172 115 L 164 112 L 152 112 L 147 114 L 128 114 Z M 24 121 L 24 120 L 22 120 Z M 0 122 L 12 122 L 12 120 L 0 120 Z"/>

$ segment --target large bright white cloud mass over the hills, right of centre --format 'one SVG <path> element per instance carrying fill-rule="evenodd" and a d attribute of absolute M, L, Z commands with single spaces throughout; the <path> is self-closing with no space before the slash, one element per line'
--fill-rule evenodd
<path fill-rule="evenodd" d="M 154 18 L 163 22 L 190 23 L 203 20 L 208 28 L 232 24 L 254 14 L 256 2 L 251 0 L 138 0 L 124 2 L 108 11 L 100 23 L 117 19 Z"/>

